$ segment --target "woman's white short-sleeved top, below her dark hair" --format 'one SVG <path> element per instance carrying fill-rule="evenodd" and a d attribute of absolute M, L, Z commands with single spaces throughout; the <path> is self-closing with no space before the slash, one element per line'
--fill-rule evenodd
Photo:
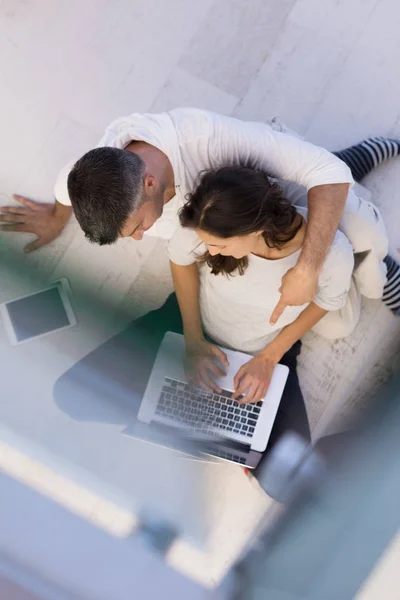
<path fill-rule="evenodd" d="M 307 218 L 307 210 L 297 209 Z M 206 250 L 190 229 L 180 228 L 168 246 L 170 259 L 178 265 L 190 265 Z M 206 264 L 200 271 L 200 312 L 203 327 L 218 344 L 254 354 L 260 352 L 279 333 L 293 323 L 306 308 L 288 306 L 275 325 L 269 319 L 279 301 L 283 275 L 295 266 L 300 250 L 278 260 L 267 260 L 251 254 L 244 275 L 213 275 Z M 334 311 L 347 301 L 354 267 L 353 248 L 338 231 L 318 280 L 314 302 Z"/>

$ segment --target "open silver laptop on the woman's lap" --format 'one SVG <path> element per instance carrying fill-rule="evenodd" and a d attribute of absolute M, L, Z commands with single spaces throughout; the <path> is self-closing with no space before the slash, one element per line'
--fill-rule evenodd
<path fill-rule="evenodd" d="M 265 451 L 289 374 L 285 365 L 275 367 L 265 398 L 254 404 L 232 399 L 233 379 L 252 356 L 223 348 L 229 360 L 227 374 L 217 380 L 220 394 L 188 383 L 185 343 L 182 335 L 167 332 L 161 342 L 137 414 L 141 424 L 154 428 L 155 436 L 143 439 L 160 445 L 167 438 L 190 441 L 202 455 L 218 457 L 254 469 Z M 125 430 L 142 437 L 141 427 Z M 161 437 L 160 437 L 161 436 Z M 160 441 L 160 439 L 164 441 Z"/>

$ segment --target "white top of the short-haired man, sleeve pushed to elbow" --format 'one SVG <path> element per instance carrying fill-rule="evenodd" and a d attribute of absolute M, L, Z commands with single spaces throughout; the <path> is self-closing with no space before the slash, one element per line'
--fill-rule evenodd
<path fill-rule="evenodd" d="M 164 152 L 174 171 L 176 195 L 147 232 L 165 239 L 176 231 L 179 208 L 193 191 L 199 174 L 207 169 L 250 164 L 306 190 L 324 184 L 353 183 L 347 165 L 323 148 L 274 131 L 265 123 L 240 121 L 196 108 L 121 117 L 110 124 L 98 146 L 125 148 L 134 140 Z M 74 162 L 62 169 L 55 185 L 55 197 L 61 204 L 71 204 L 67 179 Z"/>

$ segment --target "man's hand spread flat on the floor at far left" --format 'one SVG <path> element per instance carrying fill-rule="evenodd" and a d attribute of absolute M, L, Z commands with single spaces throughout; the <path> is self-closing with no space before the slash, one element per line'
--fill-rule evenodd
<path fill-rule="evenodd" d="M 0 231 L 34 233 L 37 239 L 27 244 L 24 252 L 32 252 L 58 237 L 72 213 L 70 206 L 59 202 L 34 202 L 25 196 L 13 195 L 21 206 L 0 207 Z"/>

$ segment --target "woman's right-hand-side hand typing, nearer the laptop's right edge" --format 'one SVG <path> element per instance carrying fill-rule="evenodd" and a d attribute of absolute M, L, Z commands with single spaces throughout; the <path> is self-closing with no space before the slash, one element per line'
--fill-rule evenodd
<path fill-rule="evenodd" d="M 259 354 L 240 367 L 234 378 L 232 398 L 240 404 L 259 402 L 269 388 L 276 362 Z"/>

